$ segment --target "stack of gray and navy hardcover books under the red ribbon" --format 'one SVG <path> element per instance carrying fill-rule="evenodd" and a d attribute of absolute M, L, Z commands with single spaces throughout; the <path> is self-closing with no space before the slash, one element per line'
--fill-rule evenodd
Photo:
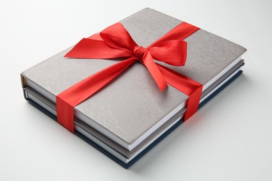
<path fill-rule="evenodd" d="M 147 47 L 181 20 L 145 8 L 121 21 L 138 45 Z M 203 85 L 199 108 L 242 73 L 240 45 L 199 29 L 188 42 L 186 65 L 168 68 Z M 24 97 L 56 120 L 56 95 L 112 60 L 64 58 L 70 49 L 22 72 Z M 183 123 L 188 95 L 168 86 L 160 91 L 149 71 L 134 63 L 88 100 L 75 107 L 75 134 L 124 168 L 133 165 Z M 190 119 L 188 120 L 190 121 Z"/>

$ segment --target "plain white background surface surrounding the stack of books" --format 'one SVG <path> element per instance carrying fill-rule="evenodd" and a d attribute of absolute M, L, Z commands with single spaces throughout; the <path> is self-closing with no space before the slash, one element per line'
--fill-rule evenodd
<path fill-rule="evenodd" d="M 272 180 L 272 1 L 0 2 L 0 180 Z M 126 170 L 23 98 L 20 72 L 142 8 L 248 49 L 244 74 Z"/>

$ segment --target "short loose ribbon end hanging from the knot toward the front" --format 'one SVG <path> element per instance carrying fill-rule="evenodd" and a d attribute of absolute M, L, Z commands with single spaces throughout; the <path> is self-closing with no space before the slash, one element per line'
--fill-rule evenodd
<path fill-rule="evenodd" d="M 151 76 L 156 81 L 158 88 L 160 88 L 160 91 L 163 91 L 167 87 L 167 83 L 149 51 L 144 53 L 144 56 L 142 57 L 142 63 L 149 70 Z"/>

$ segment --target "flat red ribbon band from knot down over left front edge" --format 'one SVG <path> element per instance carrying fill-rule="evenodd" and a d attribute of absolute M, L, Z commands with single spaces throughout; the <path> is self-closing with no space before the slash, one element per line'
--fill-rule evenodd
<path fill-rule="evenodd" d="M 58 122 L 70 132 L 74 132 L 74 107 L 100 91 L 134 61 L 135 58 L 129 58 L 126 61 L 111 65 L 57 95 L 56 113 Z"/>

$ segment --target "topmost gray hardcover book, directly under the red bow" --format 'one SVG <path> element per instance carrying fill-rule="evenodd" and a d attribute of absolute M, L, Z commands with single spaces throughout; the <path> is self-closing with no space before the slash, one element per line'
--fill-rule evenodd
<path fill-rule="evenodd" d="M 176 25 L 179 19 L 146 8 L 121 21 L 138 45 L 147 47 Z M 190 23 L 190 22 L 189 22 Z M 204 91 L 240 61 L 245 48 L 200 29 L 185 39 L 188 58 L 183 67 L 165 65 L 204 85 Z M 70 48 L 22 72 L 23 86 L 55 102 L 55 97 L 78 81 L 109 65 L 112 60 L 63 58 Z M 135 63 L 118 79 L 75 107 L 75 116 L 87 125 L 133 149 L 183 108 L 188 96 L 169 86 L 160 92 L 146 68 Z M 165 120 L 167 121 L 167 119 Z M 164 122 L 165 123 L 165 122 Z"/>

